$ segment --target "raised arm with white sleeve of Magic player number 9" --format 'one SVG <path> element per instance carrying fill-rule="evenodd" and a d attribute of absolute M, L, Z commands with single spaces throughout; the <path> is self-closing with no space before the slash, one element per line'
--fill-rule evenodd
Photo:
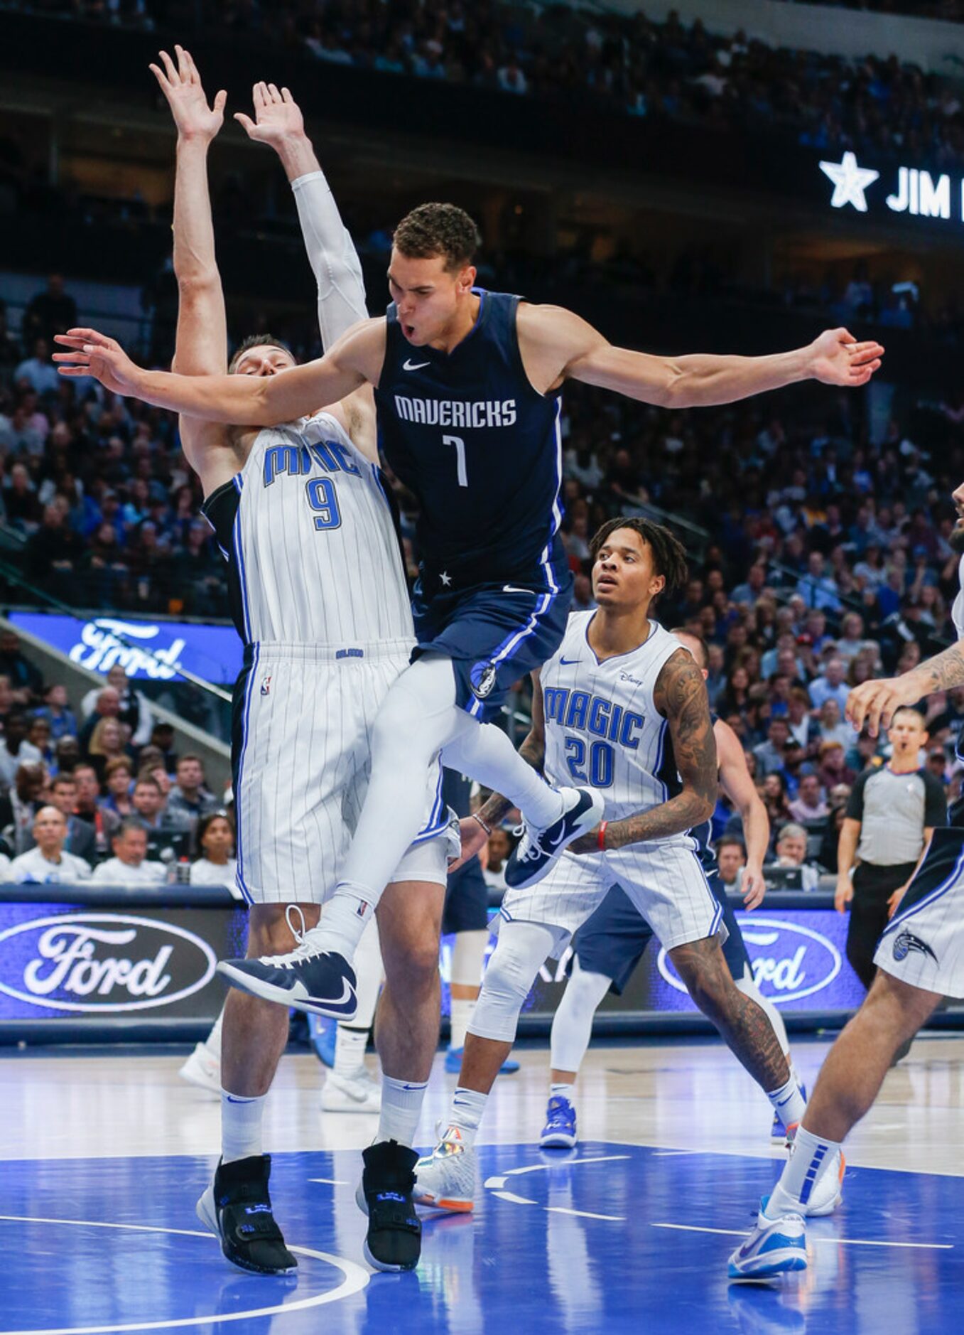
<path fill-rule="evenodd" d="M 361 263 L 335 196 L 304 129 L 301 109 L 287 88 L 255 84 L 255 119 L 236 112 L 251 139 L 269 144 L 291 182 L 308 263 L 317 284 L 317 318 L 325 350 L 368 316 Z"/>

